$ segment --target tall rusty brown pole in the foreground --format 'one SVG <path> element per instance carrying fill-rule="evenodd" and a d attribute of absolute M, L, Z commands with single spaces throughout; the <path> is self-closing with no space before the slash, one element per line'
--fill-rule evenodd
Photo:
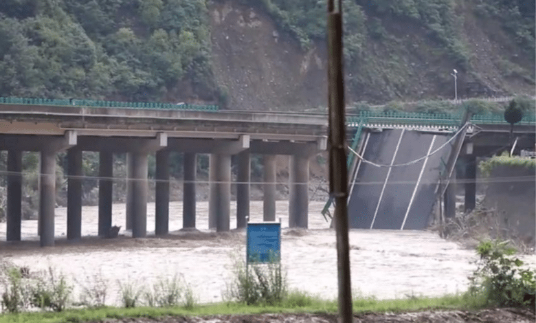
<path fill-rule="evenodd" d="M 328 109 L 329 109 L 329 190 L 335 199 L 337 236 L 337 274 L 339 280 L 339 322 L 350 323 L 352 285 L 348 247 L 348 171 L 346 170 L 346 131 L 344 129 L 344 74 L 342 66 L 342 2 L 335 8 L 328 0 Z"/>

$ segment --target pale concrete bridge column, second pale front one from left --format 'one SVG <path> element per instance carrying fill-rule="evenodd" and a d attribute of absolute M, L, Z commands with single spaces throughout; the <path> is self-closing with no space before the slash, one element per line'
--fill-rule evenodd
<path fill-rule="evenodd" d="M 133 153 L 132 166 L 132 237 L 142 238 L 147 235 L 147 153 Z"/>

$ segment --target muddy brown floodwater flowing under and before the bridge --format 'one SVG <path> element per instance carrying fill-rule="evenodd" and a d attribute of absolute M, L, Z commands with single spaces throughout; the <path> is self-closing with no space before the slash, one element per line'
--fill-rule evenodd
<path fill-rule="evenodd" d="M 309 204 L 309 230 L 288 227 L 288 202 L 277 202 L 282 218 L 282 263 L 291 289 L 322 298 L 337 296 L 335 232 L 320 210 L 324 202 Z M 263 202 L 251 202 L 251 220 L 261 221 Z M 155 205 L 148 205 L 148 230 L 154 231 Z M 232 203 L 232 214 L 236 205 Z M 98 208 L 82 210 L 82 235 L 76 243 L 65 241 L 66 208 L 56 209 L 56 247 L 38 247 L 37 221 L 23 221 L 23 242 L 5 243 L 5 223 L 0 229 L 0 257 L 31 270 L 52 266 L 75 285 L 91 285 L 94 276 L 107 281 L 107 304 L 119 304 L 118 280 L 150 285 L 157 278 L 178 274 L 197 294 L 199 302 L 222 300 L 232 273 L 232 256 L 245 256 L 245 231 L 216 233 L 208 228 L 208 202 L 197 203 L 197 229 L 182 227 L 182 203 L 170 203 L 169 236 L 129 237 L 124 232 L 124 204 L 113 205 L 113 224 L 122 225 L 115 239 L 96 238 Z M 89 237 L 93 236 L 93 237 Z M 407 296 L 439 296 L 467 289 L 467 276 L 476 268 L 472 250 L 445 241 L 436 232 L 350 230 L 350 261 L 354 293 L 379 299 Z M 526 258 L 536 263 L 535 256 Z M 75 296 L 76 298 L 76 296 Z"/>

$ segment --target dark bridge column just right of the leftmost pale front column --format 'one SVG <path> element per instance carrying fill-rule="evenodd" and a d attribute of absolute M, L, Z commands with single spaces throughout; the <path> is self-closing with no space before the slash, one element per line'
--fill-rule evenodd
<path fill-rule="evenodd" d="M 67 239 L 82 236 L 82 151 L 67 151 Z M 73 177 L 71 177 L 73 176 Z"/>

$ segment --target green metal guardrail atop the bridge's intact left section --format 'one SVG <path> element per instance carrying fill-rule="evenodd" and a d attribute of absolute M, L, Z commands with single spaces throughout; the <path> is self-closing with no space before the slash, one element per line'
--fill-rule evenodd
<path fill-rule="evenodd" d="M 219 111 L 217 105 L 172 104 L 159 102 L 120 102 L 79 99 L 0 98 L 0 104 L 50 105 L 58 107 L 104 107 L 155 110 Z"/>

